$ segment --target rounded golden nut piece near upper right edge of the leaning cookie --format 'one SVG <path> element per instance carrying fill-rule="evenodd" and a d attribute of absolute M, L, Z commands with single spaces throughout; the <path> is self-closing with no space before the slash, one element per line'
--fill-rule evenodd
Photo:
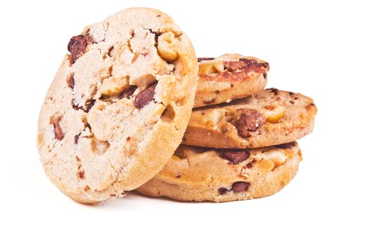
<path fill-rule="evenodd" d="M 178 58 L 177 40 L 172 32 L 163 33 L 158 38 L 157 50 L 162 59 L 172 62 Z"/>

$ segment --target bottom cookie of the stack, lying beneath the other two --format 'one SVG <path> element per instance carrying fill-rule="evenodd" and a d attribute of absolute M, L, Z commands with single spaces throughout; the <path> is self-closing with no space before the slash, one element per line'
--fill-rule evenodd
<path fill-rule="evenodd" d="M 137 191 L 181 201 L 266 197 L 289 183 L 301 160 L 296 142 L 238 150 L 182 145 L 164 169 Z"/>

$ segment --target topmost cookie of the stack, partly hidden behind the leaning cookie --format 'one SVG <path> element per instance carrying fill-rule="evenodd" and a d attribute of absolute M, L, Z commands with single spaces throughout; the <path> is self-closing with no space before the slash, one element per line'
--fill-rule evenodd
<path fill-rule="evenodd" d="M 194 107 L 230 102 L 264 89 L 269 63 L 251 56 L 224 54 L 199 58 Z"/>

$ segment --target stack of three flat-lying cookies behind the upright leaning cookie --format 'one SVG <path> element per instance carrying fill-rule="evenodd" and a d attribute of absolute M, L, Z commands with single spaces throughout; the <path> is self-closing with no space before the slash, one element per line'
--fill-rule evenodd
<path fill-rule="evenodd" d="M 300 93 L 264 90 L 267 62 L 238 54 L 199 59 L 194 109 L 183 144 L 137 191 L 182 201 L 265 197 L 295 176 L 295 142 L 313 130 L 317 109 Z"/>

